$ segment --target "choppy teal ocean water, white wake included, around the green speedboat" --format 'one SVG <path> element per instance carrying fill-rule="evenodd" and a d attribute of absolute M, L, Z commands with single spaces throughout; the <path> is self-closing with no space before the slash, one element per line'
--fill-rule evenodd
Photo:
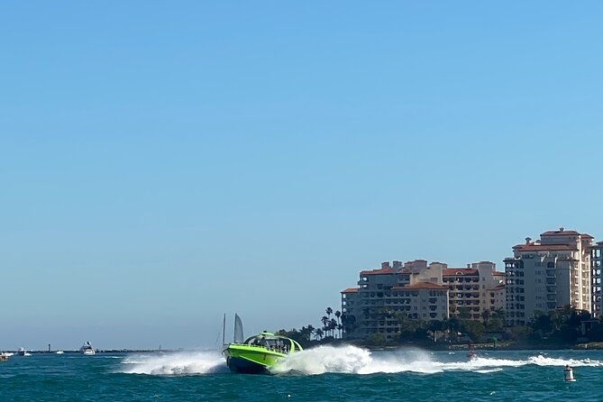
<path fill-rule="evenodd" d="M 563 380 L 570 364 L 576 382 Z M 274 375 L 218 352 L 65 353 L 0 362 L 0 401 L 603 401 L 603 351 L 370 352 L 320 347 Z"/>

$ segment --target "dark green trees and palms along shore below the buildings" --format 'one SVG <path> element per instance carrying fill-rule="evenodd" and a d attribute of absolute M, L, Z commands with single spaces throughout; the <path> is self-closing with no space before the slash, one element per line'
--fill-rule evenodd
<path fill-rule="evenodd" d="M 571 306 L 555 309 L 549 313 L 536 312 L 525 325 L 506 326 L 505 311 L 485 311 L 481 320 L 471 320 L 462 311 L 458 316 L 443 320 L 424 321 L 409 318 L 406 313 L 384 309 L 379 320 L 385 324 L 394 321 L 395 332 L 386 342 L 384 333 L 372 333 L 360 337 L 356 333 L 355 319 L 333 313 L 326 307 L 320 319 L 322 327 L 312 324 L 300 329 L 280 330 L 279 334 L 295 339 L 302 345 L 333 343 L 347 339 L 365 345 L 392 345 L 405 343 L 485 343 L 498 341 L 571 344 L 580 342 L 603 342 L 603 317 L 593 317 L 588 311 Z M 331 315 L 334 315 L 332 318 Z"/>

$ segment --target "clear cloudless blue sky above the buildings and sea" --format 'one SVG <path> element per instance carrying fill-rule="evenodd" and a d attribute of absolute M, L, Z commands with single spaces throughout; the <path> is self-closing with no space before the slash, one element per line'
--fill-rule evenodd
<path fill-rule="evenodd" d="M 602 240 L 601 21 L 2 2 L 0 350 L 213 346 L 224 313 L 318 326 L 383 260 L 503 270 L 545 230 Z"/>

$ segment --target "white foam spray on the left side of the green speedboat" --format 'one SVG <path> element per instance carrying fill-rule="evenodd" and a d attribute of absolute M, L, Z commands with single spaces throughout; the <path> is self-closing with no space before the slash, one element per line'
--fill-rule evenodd
<path fill-rule="evenodd" d="M 193 375 L 226 372 L 228 368 L 219 352 L 176 352 L 132 354 L 122 361 L 119 372 L 149 375 Z"/>

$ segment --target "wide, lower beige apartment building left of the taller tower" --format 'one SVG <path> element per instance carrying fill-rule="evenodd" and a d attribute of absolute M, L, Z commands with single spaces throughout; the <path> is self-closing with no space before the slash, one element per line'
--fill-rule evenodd
<path fill-rule="evenodd" d="M 484 310 L 504 307 L 504 274 L 488 261 L 470 267 L 448 269 L 441 262 L 414 260 L 404 264 L 394 261 L 392 265 L 383 262 L 379 270 L 362 270 L 358 288 L 341 292 L 346 336 L 365 338 L 381 333 L 389 341 L 397 336 L 400 315 L 443 320 L 450 317 L 451 310 L 458 314 L 458 306 L 467 306 L 471 319 L 479 320 Z"/>

